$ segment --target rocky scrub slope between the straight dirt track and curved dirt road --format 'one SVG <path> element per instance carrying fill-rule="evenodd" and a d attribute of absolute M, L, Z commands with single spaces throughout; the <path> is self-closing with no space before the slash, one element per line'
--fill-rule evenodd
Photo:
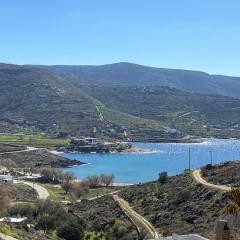
<path fill-rule="evenodd" d="M 159 182 L 129 186 L 120 196 L 164 235 L 200 233 L 208 236 L 214 221 L 225 216 L 227 193 L 197 184 L 189 172 Z"/>

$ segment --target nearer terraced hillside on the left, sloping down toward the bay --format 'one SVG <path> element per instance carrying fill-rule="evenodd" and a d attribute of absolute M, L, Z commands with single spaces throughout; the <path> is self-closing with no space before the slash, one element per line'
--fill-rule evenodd
<path fill-rule="evenodd" d="M 160 137 L 167 135 L 161 123 L 109 109 L 79 86 L 36 67 L 0 65 L 0 109 L 0 132 L 124 139 L 127 129 L 130 137 L 134 132 L 142 139 L 141 126 L 152 124 Z"/>

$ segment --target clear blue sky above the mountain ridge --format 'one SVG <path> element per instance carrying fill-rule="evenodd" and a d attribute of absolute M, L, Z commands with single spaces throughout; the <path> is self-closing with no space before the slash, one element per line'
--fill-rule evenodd
<path fill-rule="evenodd" d="M 0 62 L 240 76 L 239 0 L 0 0 Z"/>

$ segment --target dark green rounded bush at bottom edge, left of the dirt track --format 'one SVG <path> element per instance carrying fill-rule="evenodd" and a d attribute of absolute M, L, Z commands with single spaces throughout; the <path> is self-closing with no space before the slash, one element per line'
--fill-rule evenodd
<path fill-rule="evenodd" d="M 57 230 L 57 235 L 60 238 L 64 238 L 66 240 L 83 240 L 84 239 L 84 231 L 80 224 L 76 222 L 68 222 L 62 225 Z"/>

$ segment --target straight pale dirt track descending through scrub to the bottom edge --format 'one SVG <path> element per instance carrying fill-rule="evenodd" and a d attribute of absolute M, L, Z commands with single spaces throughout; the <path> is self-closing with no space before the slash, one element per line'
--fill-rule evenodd
<path fill-rule="evenodd" d="M 118 195 L 113 195 L 113 199 L 118 203 L 118 205 L 122 208 L 124 213 L 132 220 L 132 222 L 137 227 L 140 232 L 142 229 L 147 233 L 147 239 L 157 239 L 159 234 L 154 226 L 146 220 L 143 216 L 134 211 L 127 201 L 120 198 Z"/>

